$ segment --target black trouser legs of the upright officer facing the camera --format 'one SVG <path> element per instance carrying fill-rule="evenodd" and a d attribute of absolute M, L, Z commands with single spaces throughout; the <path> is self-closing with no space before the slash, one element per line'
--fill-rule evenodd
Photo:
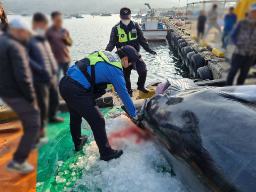
<path fill-rule="evenodd" d="M 144 87 L 148 70 L 146 67 L 146 63 L 145 63 L 145 61 L 143 61 L 141 56 L 136 62 L 136 68 L 137 68 L 137 73 L 139 75 L 137 85 L 138 85 L 138 87 Z M 132 84 L 131 84 L 131 79 L 130 79 L 131 72 L 132 72 L 132 67 L 128 67 L 127 70 L 124 70 L 124 79 L 125 79 L 126 88 L 127 88 L 127 91 L 129 94 L 132 93 Z"/>

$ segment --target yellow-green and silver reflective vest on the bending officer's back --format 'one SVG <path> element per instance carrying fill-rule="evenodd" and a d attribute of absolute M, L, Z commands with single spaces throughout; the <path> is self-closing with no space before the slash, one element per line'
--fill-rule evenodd
<path fill-rule="evenodd" d="M 119 58 L 118 54 L 116 54 L 116 53 L 111 53 L 109 51 L 100 50 L 98 52 L 95 52 L 91 55 L 86 56 L 85 58 L 90 60 L 91 66 L 96 65 L 96 63 L 98 63 L 98 62 L 106 62 L 109 65 L 115 66 L 115 67 L 123 70 L 121 59 Z"/>

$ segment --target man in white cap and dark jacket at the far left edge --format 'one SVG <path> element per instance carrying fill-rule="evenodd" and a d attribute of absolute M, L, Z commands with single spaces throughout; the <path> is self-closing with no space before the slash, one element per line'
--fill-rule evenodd
<path fill-rule="evenodd" d="M 39 109 L 33 87 L 26 43 L 32 30 L 26 20 L 13 19 L 9 29 L 0 36 L 0 96 L 18 115 L 23 135 L 13 159 L 6 169 L 29 173 L 34 167 L 26 162 L 38 138 Z"/>

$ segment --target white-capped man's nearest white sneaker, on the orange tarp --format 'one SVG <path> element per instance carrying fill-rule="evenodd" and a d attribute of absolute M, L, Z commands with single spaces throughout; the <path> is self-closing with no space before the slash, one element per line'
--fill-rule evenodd
<path fill-rule="evenodd" d="M 18 163 L 15 162 L 13 159 L 6 165 L 6 169 L 9 171 L 16 171 L 20 173 L 30 173 L 32 172 L 35 168 L 34 166 L 28 164 L 26 161 L 23 163 Z"/>

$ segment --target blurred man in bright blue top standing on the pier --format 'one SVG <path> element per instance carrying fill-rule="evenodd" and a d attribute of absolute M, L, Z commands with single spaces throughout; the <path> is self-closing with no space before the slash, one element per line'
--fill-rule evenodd
<path fill-rule="evenodd" d="M 226 14 L 224 19 L 224 29 L 221 37 L 222 48 L 224 48 L 225 50 L 227 50 L 229 39 L 232 34 L 236 20 L 237 20 L 237 17 L 236 17 L 236 14 L 234 13 L 234 7 L 230 7 L 229 13 Z"/>

